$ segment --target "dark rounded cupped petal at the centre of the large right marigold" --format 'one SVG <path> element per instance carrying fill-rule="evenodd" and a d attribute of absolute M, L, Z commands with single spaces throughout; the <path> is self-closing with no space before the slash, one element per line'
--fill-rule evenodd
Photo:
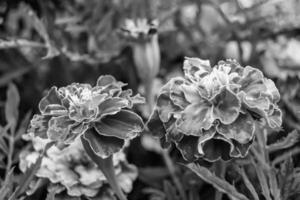
<path fill-rule="evenodd" d="M 241 103 L 238 97 L 225 87 L 213 99 L 213 117 L 223 124 L 230 124 L 239 115 Z"/>

